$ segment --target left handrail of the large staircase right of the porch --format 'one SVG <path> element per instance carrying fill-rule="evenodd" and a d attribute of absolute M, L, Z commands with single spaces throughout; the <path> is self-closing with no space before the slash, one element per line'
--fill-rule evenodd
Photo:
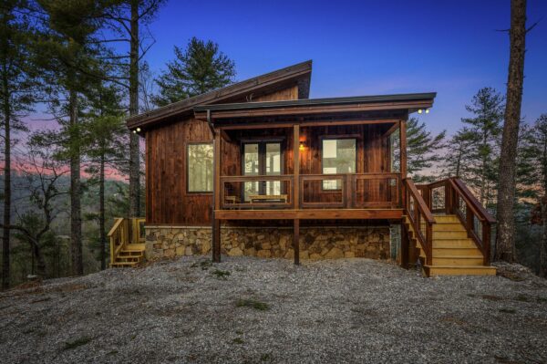
<path fill-rule="evenodd" d="M 428 208 L 424 197 L 418 192 L 418 188 L 410 178 L 405 179 L 405 210 L 408 220 L 414 229 L 416 237 L 423 247 L 426 255 L 426 265 L 433 262 L 433 224 L 435 218 Z M 413 199 L 414 203 L 410 203 Z M 425 229 L 422 228 L 425 224 Z M 425 230 L 425 231 L 424 231 Z"/>

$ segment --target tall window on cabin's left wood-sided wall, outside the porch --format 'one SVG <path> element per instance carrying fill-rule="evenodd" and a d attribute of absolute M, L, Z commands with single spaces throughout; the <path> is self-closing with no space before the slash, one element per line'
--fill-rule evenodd
<path fill-rule="evenodd" d="M 188 144 L 188 192 L 212 192 L 212 143 Z"/>

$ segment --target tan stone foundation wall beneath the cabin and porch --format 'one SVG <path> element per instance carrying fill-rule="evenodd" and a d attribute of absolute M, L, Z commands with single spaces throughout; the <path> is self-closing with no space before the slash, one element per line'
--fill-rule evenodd
<path fill-rule="evenodd" d="M 146 226 L 146 257 L 211 254 L 211 227 Z M 292 259 L 290 227 L 222 227 L 222 254 Z M 301 259 L 366 257 L 389 259 L 389 226 L 301 227 Z"/>

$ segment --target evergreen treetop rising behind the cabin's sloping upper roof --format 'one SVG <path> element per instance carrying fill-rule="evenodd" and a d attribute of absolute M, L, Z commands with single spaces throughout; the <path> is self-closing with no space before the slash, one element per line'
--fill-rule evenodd
<path fill-rule="evenodd" d="M 211 40 L 204 42 L 192 37 L 184 51 L 175 46 L 175 56 L 167 64 L 167 71 L 156 79 L 160 95 L 152 100 L 158 106 L 188 99 L 233 82 L 234 62 L 220 52 L 219 45 Z"/>

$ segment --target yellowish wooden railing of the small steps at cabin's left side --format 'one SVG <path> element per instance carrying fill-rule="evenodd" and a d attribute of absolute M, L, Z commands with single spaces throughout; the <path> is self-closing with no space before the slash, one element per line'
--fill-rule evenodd
<path fill-rule="evenodd" d="M 108 232 L 110 240 L 110 261 L 119 255 L 128 244 L 144 243 L 143 217 L 114 219 L 114 225 Z"/>

